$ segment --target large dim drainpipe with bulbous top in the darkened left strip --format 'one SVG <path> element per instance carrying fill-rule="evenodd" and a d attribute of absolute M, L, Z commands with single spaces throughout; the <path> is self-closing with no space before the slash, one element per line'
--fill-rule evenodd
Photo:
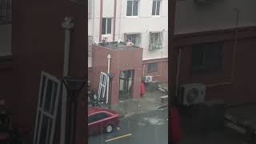
<path fill-rule="evenodd" d="M 62 28 L 65 29 L 65 46 L 64 46 L 64 66 L 63 66 L 63 77 L 69 74 L 70 68 L 70 31 L 74 27 L 74 22 L 72 18 L 64 18 L 62 22 Z M 66 141 L 66 100 L 67 94 L 65 86 L 62 86 L 62 120 L 61 120 L 61 144 L 65 144 Z"/>

